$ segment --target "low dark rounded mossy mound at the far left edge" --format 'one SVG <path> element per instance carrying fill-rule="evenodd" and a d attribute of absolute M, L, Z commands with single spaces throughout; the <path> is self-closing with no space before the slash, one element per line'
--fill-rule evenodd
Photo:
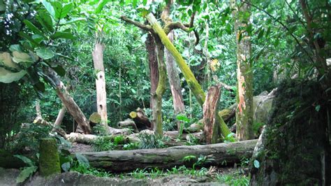
<path fill-rule="evenodd" d="M 10 152 L 0 149 L 0 167 L 5 169 L 19 169 L 25 166 L 21 159 L 14 157 Z"/>

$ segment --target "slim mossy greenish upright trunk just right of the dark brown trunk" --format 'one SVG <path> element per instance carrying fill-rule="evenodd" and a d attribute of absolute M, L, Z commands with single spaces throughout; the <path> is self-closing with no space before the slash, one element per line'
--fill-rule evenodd
<path fill-rule="evenodd" d="M 165 83 L 166 83 L 166 68 L 164 62 L 164 46 L 161 43 L 159 36 L 154 36 L 156 44 L 156 57 L 159 65 L 159 83 L 157 85 L 155 94 L 153 95 L 156 99 L 156 105 L 153 110 L 153 120 L 154 120 L 154 131 L 159 136 L 163 135 L 162 129 L 162 96 L 165 92 Z"/>

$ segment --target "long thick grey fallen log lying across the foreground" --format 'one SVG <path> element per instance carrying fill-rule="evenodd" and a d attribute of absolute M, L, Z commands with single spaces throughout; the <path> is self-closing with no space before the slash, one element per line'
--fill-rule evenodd
<path fill-rule="evenodd" d="M 191 166 L 197 159 L 184 162 L 186 156 L 207 156 L 211 160 L 209 165 L 221 165 L 225 162 L 233 164 L 242 158 L 251 158 L 256 140 L 240 141 L 236 143 L 217 143 L 212 145 L 176 146 L 172 148 L 147 150 L 111 150 L 105 152 L 83 152 L 89 159 L 89 164 L 107 171 L 133 171 L 156 167 L 170 169 L 174 166 Z"/>

